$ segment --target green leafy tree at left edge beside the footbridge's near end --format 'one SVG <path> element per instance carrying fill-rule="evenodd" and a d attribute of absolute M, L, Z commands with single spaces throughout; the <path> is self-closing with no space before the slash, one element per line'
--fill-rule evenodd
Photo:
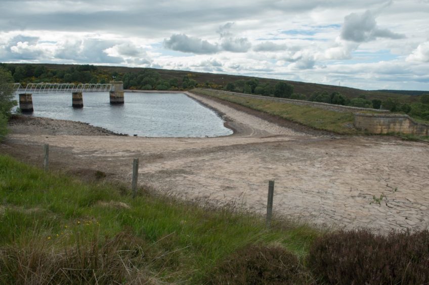
<path fill-rule="evenodd" d="M 14 100 L 12 82 L 12 74 L 0 66 L 0 140 L 7 134 L 7 122 L 11 109 L 17 104 Z"/>

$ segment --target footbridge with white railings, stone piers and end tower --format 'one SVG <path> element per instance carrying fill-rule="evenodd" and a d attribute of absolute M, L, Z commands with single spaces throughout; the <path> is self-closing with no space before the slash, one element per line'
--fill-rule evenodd
<path fill-rule="evenodd" d="M 123 82 L 110 81 L 109 84 L 89 83 L 28 83 L 23 87 L 14 84 L 14 92 L 19 94 L 19 108 L 23 113 L 31 113 L 33 109 L 33 93 L 71 93 L 72 107 L 83 108 L 83 92 L 107 92 L 110 104 L 123 104 Z"/>

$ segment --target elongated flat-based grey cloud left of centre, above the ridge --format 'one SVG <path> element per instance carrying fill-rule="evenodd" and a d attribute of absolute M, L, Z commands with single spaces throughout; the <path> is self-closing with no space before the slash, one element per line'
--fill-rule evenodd
<path fill-rule="evenodd" d="M 185 34 L 171 35 L 169 39 L 164 39 L 164 46 L 167 49 L 183 53 L 215 54 L 219 52 L 217 44 Z"/>

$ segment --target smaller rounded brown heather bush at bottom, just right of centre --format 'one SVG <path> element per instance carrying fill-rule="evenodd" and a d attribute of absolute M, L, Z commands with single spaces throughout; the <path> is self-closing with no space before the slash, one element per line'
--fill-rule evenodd
<path fill-rule="evenodd" d="M 208 284 L 296 284 L 303 267 L 282 247 L 251 245 L 222 261 L 208 276 Z"/>

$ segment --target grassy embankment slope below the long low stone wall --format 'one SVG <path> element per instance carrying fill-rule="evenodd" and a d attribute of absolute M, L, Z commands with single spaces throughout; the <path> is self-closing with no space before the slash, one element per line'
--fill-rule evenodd
<path fill-rule="evenodd" d="M 311 106 L 297 106 L 262 99 L 245 98 L 218 90 L 192 89 L 192 92 L 236 103 L 318 130 L 326 130 L 340 134 L 360 133 L 353 127 L 354 115 L 352 112 L 340 113 Z"/>

